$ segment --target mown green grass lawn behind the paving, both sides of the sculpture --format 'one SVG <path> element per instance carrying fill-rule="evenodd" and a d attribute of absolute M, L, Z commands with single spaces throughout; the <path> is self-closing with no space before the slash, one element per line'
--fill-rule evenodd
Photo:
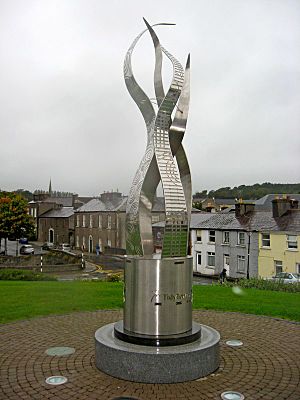
<path fill-rule="evenodd" d="M 0 281 L 0 323 L 122 307 L 122 283 Z M 238 311 L 300 321 L 300 293 L 194 286 L 194 309 Z"/>

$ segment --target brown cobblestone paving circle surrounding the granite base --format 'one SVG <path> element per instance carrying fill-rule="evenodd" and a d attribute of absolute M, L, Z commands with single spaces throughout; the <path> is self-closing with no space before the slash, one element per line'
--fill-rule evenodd
<path fill-rule="evenodd" d="M 36 318 L 0 326 L 0 399 L 220 399 L 235 390 L 245 399 L 300 399 L 300 325 L 238 313 L 195 311 L 193 319 L 221 334 L 221 365 L 212 375 L 180 384 L 139 384 L 112 378 L 95 367 L 94 333 L 122 319 L 121 311 Z M 228 347 L 240 339 L 240 348 Z M 75 353 L 49 356 L 50 347 Z M 147 371 L 145 371 L 145 374 Z M 62 375 L 68 382 L 50 386 Z"/>

